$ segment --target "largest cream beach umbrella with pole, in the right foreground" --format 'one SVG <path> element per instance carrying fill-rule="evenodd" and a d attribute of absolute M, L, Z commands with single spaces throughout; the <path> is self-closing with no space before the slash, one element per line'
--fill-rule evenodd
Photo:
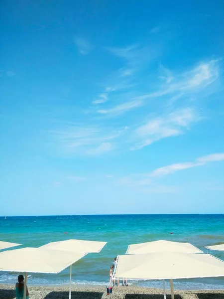
<path fill-rule="evenodd" d="M 117 256 L 113 279 L 170 280 L 224 277 L 224 261 L 209 254 L 159 252 Z"/>

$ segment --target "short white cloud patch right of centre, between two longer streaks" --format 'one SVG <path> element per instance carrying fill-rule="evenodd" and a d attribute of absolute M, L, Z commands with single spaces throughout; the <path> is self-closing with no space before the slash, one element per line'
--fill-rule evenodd
<path fill-rule="evenodd" d="M 151 119 L 135 130 L 135 138 L 139 142 L 131 149 L 142 149 L 160 139 L 184 134 L 185 130 L 198 120 L 199 117 L 193 108 L 177 110 Z"/>

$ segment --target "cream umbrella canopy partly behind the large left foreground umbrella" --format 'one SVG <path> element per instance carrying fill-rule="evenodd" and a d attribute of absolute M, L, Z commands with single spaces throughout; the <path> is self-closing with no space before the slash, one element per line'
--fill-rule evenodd
<path fill-rule="evenodd" d="M 70 252 L 100 252 L 102 248 L 107 244 L 107 242 L 99 241 L 85 241 L 85 240 L 65 240 L 58 242 L 50 242 L 39 248 L 51 249 L 51 250 L 61 250 Z"/>

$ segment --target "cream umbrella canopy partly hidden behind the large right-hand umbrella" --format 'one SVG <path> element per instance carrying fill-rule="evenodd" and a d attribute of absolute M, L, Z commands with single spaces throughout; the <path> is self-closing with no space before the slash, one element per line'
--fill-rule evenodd
<path fill-rule="evenodd" d="M 172 241 L 152 241 L 128 246 L 127 254 L 144 254 L 155 252 L 182 252 L 182 253 L 203 253 L 200 249 L 190 243 Z"/>

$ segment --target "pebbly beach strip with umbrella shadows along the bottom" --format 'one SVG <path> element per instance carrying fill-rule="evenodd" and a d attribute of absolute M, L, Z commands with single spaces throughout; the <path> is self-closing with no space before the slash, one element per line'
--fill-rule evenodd
<path fill-rule="evenodd" d="M 68 299 L 68 286 L 29 287 L 30 299 Z M 0 299 L 14 299 L 15 292 L 12 285 L 0 285 Z M 72 286 L 72 299 L 164 299 L 163 290 L 141 287 L 113 288 L 112 295 L 107 296 L 103 286 Z M 171 299 L 170 290 L 167 290 L 167 299 Z M 175 299 L 224 299 L 224 290 L 209 291 L 175 291 Z"/>

